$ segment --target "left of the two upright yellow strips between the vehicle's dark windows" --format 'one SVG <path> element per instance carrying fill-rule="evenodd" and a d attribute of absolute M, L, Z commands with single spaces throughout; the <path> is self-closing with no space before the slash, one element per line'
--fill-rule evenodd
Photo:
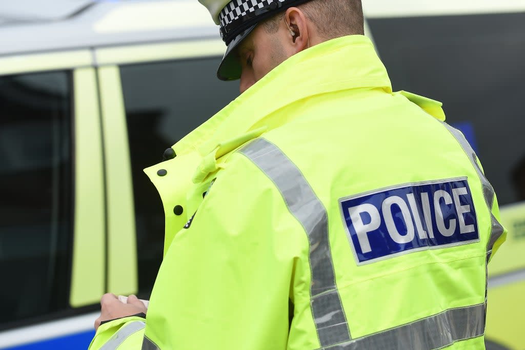
<path fill-rule="evenodd" d="M 94 68 L 74 71 L 75 232 L 69 303 L 97 303 L 104 293 L 104 183 Z"/>

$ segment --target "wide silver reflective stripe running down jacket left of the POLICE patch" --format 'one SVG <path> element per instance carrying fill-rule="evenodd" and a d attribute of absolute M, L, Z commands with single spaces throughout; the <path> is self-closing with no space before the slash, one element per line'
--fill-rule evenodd
<path fill-rule="evenodd" d="M 290 213 L 301 223 L 310 242 L 311 309 L 321 346 L 351 340 L 348 322 L 335 285 L 328 240 L 328 216 L 306 178 L 278 147 L 256 139 L 239 150 L 279 189 Z"/>

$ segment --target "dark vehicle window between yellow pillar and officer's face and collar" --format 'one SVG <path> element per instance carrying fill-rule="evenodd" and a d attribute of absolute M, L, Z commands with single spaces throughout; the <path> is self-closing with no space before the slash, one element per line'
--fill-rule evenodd
<path fill-rule="evenodd" d="M 164 211 L 142 169 L 238 95 L 216 78 L 220 58 L 148 63 L 120 69 L 135 198 L 139 294 L 149 298 L 162 261 Z"/>

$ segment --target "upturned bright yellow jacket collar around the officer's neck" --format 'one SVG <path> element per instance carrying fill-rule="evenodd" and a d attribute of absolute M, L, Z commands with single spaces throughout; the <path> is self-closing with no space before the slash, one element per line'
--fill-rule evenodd
<path fill-rule="evenodd" d="M 360 88 L 382 88 L 392 93 L 386 69 L 370 39 L 352 35 L 325 41 L 282 62 L 173 148 L 178 155 L 195 150 L 204 155 L 290 103 Z M 268 129 L 283 123 L 278 118 L 272 120 Z"/>

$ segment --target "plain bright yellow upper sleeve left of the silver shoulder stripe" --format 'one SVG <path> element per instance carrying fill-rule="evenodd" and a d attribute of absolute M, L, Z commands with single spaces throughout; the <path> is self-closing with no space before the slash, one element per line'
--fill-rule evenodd
<path fill-rule="evenodd" d="M 155 281 L 149 340 L 173 350 L 285 349 L 308 238 L 274 183 L 234 153 L 186 227 Z"/>

